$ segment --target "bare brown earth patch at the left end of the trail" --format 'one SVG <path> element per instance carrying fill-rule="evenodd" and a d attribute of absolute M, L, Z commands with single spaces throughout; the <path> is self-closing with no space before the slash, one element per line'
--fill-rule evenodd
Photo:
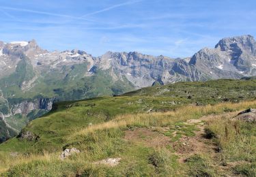
<path fill-rule="evenodd" d="M 169 137 L 146 128 L 127 130 L 125 132 L 125 140 L 130 142 L 140 142 L 146 146 L 154 148 L 163 147 L 170 144 Z"/>

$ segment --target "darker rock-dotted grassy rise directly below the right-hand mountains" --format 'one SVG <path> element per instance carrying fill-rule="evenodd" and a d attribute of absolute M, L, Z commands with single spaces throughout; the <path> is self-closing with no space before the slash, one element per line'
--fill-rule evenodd
<path fill-rule="evenodd" d="M 190 98 L 194 102 L 216 103 L 255 99 L 256 80 L 210 80 L 208 82 L 178 82 L 165 86 L 152 86 L 125 93 L 126 96 L 157 96 Z"/>

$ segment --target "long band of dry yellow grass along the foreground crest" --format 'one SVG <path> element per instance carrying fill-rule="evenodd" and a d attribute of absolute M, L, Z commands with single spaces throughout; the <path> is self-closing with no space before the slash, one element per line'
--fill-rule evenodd
<path fill-rule="evenodd" d="M 219 103 L 214 106 L 184 106 L 177 108 L 171 112 L 152 112 L 143 114 L 124 114 L 116 116 L 113 120 L 91 125 L 81 131 L 78 131 L 70 136 L 70 140 L 76 135 L 87 135 L 87 133 L 111 128 L 121 128 L 127 125 L 139 126 L 165 126 L 180 121 L 186 121 L 191 118 L 199 118 L 208 114 L 221 114 L 225 110 L 244 110 L 246 108 L 256 107 L 256 101 L 242 101 L 240 103 Z"/>

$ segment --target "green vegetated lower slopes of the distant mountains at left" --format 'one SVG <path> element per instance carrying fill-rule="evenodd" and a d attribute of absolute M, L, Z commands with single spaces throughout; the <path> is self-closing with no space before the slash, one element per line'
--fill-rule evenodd
<path fill-rule="evenodd" d="M 13 74 L 0 80 L 3 96 L 8 99 L 7 104 L 3 104 L 0 100 L 0 112 L 10 113 L 8 104 L 11 107 L 22 101 L 33 102 L 34 99 L 39 98 L 57 97 L 59 101 L 79 100 L 102 95 L 119 95 L 134 89 L 125 78 L 113 81 L 109 76 L 109 71 L 99 70 L 94 76 L 85 77 L 86 71 L 87 63 L 72 65 L 72 67 L 64 66 L 61 71 L 52 70 L 43 73 L 35 80 L 31 89 L 22 91 L 20 88 L 22 83 L 35 76 L 31 63 L 25 58 L 18 63 Z M 20 115 L 15 115 L 8 118 L 7 121 L 10 126 L 20 130 L 29 120 L 42 116 L 42 113 L 44 110 L 33 110 L 29 115 L 23 115 L 22 119 L 17 118 Z M 4 139 L 10 138 L 3 131 L 0 131 L 0 136 L 3 136 Z"/>

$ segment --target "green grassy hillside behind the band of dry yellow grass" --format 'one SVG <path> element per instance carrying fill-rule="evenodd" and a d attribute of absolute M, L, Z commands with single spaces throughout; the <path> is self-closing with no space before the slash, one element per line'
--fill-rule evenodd
<path fill-rule="evenodd" d="M 31 121 L 23 131 L 39 136 L 36 142 L 13 138 L 0 145 L 10 149 L 14 141 L 20 150 L 57 150 L 66 144 L 70 131 L 79 131 L 89 123 L 109 121 L 117 115 L 143 112 L 165 112 L 185 105 L 205 105 L 256 99 L 256 80 L 210 80 L 208 82 L 178 82 L 151 86 L 119 97 L 99 97 L 82 101 L 55 103 L 48 114 Z M 51 133 L 50 133 L 51 131 Z M 56 142 L 57 141 L 57 142 Z M 26 143 L 26 149 L 22 149 Z M 57 143 L 57 144 L 56 144 Z M 20 144 L 20 145 L 18 145 Z M 23 145 L 22 145 L 23 144 Z M 33 145 L 33 146 L 32 146 Z M 36 148 L 35 148 L 36 147 Z M 14 147 L 14 151 L 17 151 Z"/>

